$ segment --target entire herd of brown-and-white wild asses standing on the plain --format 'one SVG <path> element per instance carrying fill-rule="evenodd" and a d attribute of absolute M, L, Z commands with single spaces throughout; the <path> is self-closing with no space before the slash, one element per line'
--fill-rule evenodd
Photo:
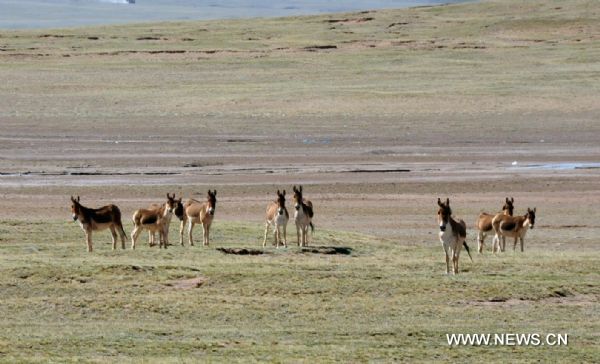
<path fill-rule="evenodd" d="M 313 205 L 302 196 L 302 186 L 293 186 L 294 191 L 294 223 L 296 225 L 297 243 L 299 246 L 308 245 L 308 228 L 314 230 L 312 218 L 314 216 Z M 215 215 L 217 206 L 217 190 L 208 190 L 206 201 L 189 199 L 182 203 L 182 199 L 175 199 L 167 193 L 167 201 L 164 204 L 153 204 L 149 208 L 136 210 L 133 214 L 133 231 L 131 233 L 131 248 L 135 249 L 136 241 L 143 230 L 149 232 L 150 246 L 155 245 L 156 233 L 159 234 L 159 248 L 165 249 L 169 245 L 169 225 L 171 217 L 175 215 L 180 221 L 179 229 L 180 244 L 183 246 L 183 233 L 185 225 L 188 225 L 189 244 L 194 245 L 192 231 L 195 224 L 202 224 L 203 244 L 208 245 L 210 226 Z M 520 240 L 521 251 L 523 251 L 523 239 L 528 229 L 533 229 L 535 224 L 536 208 L 527 208 L 527 213 L 522 216 L 513 216 L 514 198 L 506 198 L 502 211 L 496 214 L 482 212 L 475 224 L 478 230 L 477 242 L 479 253 L 483 252 L 483 244 L 487 235 L 495 234 L 492 241 L 492 252 L 504 251 L 506 238 L 514 238 L 513 250 Z M 71 196 L 71 212 L 73 220 L 78 221 L 85 232 L 88 252 L 92 251 L 92 232 L 110 229 L 112 233 L 112 248 L 117 247 L 117 234 L 121 237 L 122 248 L 125 249 L 127 239 L 123 223 L 121 222 L 121 211 L 115 205 L 107 205 L 97 209 L 88 208 L 80 203 L 80 198 Z M 446 253 L 446 273 L 450 273 L 450 260 L 452 260 L 452 273 L 458 274 L 458 258 L 464 246 L 471 258 L 469 246 L 466 243 L 467 226 L 463 220 L 455 220 L 452 217 L 450 199 L 443 202 L 438 198 L 437 219 L 439 223 L 439 238 Z M 276 247 L 287 247 L 286 228 L 289 213 L 285 207 L 285 190 L 277 190 L 277 199 L 267 205 L 265 216 L 265 237 L 263 247 L 267 243 L 269 228 L 273 229 L 274 245 Z M 502 242 L 500 242 L 502 238 Z"/>

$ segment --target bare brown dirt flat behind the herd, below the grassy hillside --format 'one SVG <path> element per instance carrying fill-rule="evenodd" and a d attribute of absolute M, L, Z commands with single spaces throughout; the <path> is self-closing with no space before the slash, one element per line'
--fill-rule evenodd
<path fill-rule="evenodd" d="M 527 244 L 597 249 L 597 146 L 446 145 L 437 135 L 398 145 L 393 138 L 368 135 L 369 129 L 364 137 L 324 133 L 311 141 L 138 133 L 128 128 L 118 137 L 111 130 L 94 136 L 5 136 L 3 219 L 69 219 L 69 196 L 79 195 L 85 205 L 119 205 L 128 221 L 135 209 L 161 202 L 167 192 L 203 198 L 214 188 L 218 219 L 261 224 L 277 189 L 288 191 L 292 209 L 292 186 L 302 184 L 315 205 L 317 233 L 324 227 L 400 244 L 436 244 L 436 200 L 449 197 L 475 244 L 472 226 L 479 212 L 499 210 L 511 196 L 518 214 L 538 209 Z M 546 138 L 562 136 L 557 131 Z"/>

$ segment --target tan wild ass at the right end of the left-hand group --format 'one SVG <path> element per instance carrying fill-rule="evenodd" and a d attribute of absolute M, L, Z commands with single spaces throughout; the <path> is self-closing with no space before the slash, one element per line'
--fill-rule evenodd
<path fill-rule="evenodd" d="M 183 205 L 183 220 L 181 221 L 181 227 L 179 228 L 179 242 L 183 246 L 183 228 L 186 222 L 189 221 L 188 233 L 190 245 L 194 245 L 194 239 L 192 237 L 192 230 L 194 224 L 202 223 L 202 237 L 203 244 L 208 245 L 210 224 L 215 216 L 215 209 L 217 207 L 217 190 L 211 192 L 208 190 L 206 196 L 206 202 L 200 202 L 194 199 L 188 200 Z"/>

